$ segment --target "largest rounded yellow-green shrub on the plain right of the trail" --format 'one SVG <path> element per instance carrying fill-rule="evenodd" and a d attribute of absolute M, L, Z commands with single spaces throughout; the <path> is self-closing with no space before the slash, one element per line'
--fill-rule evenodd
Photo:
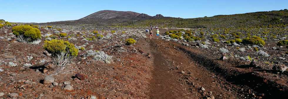
<path fill-rule="evenodd" d="M 264 40 L 258 36 L 253 36 L 252 38 L 244 38 L 243 43 L 255 44 L 255 45 L 265 45 Z"/>

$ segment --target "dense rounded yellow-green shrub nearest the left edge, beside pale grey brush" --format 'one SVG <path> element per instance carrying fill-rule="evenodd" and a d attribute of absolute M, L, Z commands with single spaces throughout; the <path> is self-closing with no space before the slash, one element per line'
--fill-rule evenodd
<path fill-rule="evenodd" d="M 38 28 L 33 28 L 32 26 L 22 25 L 14 26 L 12 32 L 17 37 L 23 35 L 25 38 L 31 38 L 31 40 L 41 39 L 41 33 Z"/>

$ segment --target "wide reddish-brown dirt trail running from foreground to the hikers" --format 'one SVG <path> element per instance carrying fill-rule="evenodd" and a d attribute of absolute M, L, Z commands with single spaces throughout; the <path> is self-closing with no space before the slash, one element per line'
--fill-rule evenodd
<path fill-rule="evenodd" d="M 147 39 L 143 41 L 150 44 L 149 50 L 154 60 L 153 78 L 149 86 L 151 99 L 236 98 L 237 93 L 227 87 L 229 83 L 223 83 L 214 73 L 201 68 L 201 65 L 175 47 L 177 43 L 155 39 L 155 30 L 151 40 L 149 35 L 146 36 Z"/>

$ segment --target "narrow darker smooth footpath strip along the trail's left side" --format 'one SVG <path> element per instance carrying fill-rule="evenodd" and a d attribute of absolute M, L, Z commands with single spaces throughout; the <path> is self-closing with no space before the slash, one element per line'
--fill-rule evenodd
<path fill-rule="evenodd" d="M 150 41 L 154 46 L 154 41 Z M 154 59 L 153 80 L 150 86 L 151 99 L 177 99 L 183 97 L 180 82 L 171 73 L 162 54 L 157 49 L 152 49 Z M 180 94 L 179 94 L 180 93 Z"/>

